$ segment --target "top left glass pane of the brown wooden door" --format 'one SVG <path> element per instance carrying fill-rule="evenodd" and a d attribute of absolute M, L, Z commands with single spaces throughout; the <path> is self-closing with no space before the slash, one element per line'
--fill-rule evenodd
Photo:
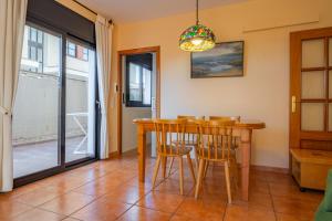
<path fill-rule="evenodd" d="M 302 67 L 324 66 L 324 39 L 302 42 Z"/>

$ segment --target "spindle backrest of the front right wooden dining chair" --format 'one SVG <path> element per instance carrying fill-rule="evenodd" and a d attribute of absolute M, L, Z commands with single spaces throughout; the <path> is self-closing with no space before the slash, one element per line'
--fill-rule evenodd
<path fill-rule="evenodd" d="M 199 134 L 199 157 L 216 161 L 229 159 L 235 120 L 197 120 L 196 125 Z"/>

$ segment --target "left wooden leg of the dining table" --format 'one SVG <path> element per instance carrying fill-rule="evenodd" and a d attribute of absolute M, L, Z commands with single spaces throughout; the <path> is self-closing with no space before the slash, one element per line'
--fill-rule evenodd
<path fill-rule="evenodd" d="M 138 145 L 138 178 L 141 182 L 145 181 L 145 156 L 146 156 L 146 131 L 143 126 L 137 128 L 137 145 Z"/>

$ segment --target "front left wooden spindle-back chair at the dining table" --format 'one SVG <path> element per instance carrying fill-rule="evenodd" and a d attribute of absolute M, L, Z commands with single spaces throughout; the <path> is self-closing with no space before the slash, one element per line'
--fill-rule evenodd
<path fill-rule="evenodd" d="M 196 182 L 193 162 L 190 159 L 191 147 L 185 144 L 185 131 L 186 131 L 186 119 L 156 119 L 155 131 L 157 140 L 157 161 L 154 168 L 153 175 L 153 188 L 155 188 L 156 178 L 158 175 L 160 161 L 163 160 L 163 173 L 165 178 L 167 157 L 178 158 L 179 160 L 179 185 L 180 194 L 184 193 L 184 167 L 183 157 L 186 156 L 188 159 L 188 165 L 190 173 L 193 176 L 194 182 Z M 173 140 L 177 140 L 173 143 Z"/>

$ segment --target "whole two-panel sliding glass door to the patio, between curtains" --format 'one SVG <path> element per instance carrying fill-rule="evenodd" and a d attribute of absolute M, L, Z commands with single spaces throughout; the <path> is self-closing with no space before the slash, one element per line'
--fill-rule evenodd
<path fill-rule="evenodd" d="M 95 49 L 29 23 L 13 109 L 13 169 L 23 183 L 96 156 Z"/>

